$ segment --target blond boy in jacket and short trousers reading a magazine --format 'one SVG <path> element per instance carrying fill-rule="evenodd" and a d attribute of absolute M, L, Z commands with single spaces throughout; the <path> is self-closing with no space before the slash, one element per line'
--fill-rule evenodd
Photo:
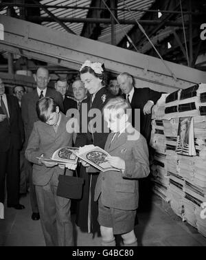
<path fill-rule="evenodd" d="M 122 235 L 124 246 L 137 246 L 135 215 L 138 207 L 138 179 L 150 173 L 146 139 L 128 122 L 130 105 L 123 98 L 108 101 L 104 119 L 112 133 L 105 151 L 111 166 L 119 171 L 101 172 L 95 186 L 102 246 L 115 246 L 114 235 Z"/>

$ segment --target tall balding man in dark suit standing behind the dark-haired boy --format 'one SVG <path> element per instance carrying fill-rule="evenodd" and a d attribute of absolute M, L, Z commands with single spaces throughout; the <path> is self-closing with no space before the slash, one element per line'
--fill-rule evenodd
<path fill-rule="evenodd" d="M 25 129 L 25 148 L 27 147 L 30 134 L 34 126 L 34 122 L 38 121 L 38 116 L 36 113 L 36 102 L 39 98 L 49 96 L 54 98 L 56 104 L 63 111 L 62 96 L 55 89 L 47 88 L 49 83 L 49 72 L 44 67 L 38 67 L 36 75 L 34 75 L 36 81 L 36 89 L 34 91 L 27 93 L 23 96 L 21 101 L 21 114 L 23 118 L 23 124 Z M 32 219 L 38 220 L 38 204 L 36 200 L 36 193 L 34 185 L 32 183 L 32 164 L 25 160 L 25 171 L 27 171 L 27 176 L 30 176 L 30 199 L 32 204 Z"/>

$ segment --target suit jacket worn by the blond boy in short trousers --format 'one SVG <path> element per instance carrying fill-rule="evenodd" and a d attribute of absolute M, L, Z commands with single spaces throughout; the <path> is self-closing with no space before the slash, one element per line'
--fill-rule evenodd
<path fill-rule="evenodd" d="M 130 129 L 132 129 L 130 127 Z M 122 133 L 113 142 L 110 133 L 105 144 L 105 150 L 111 156 L 125 160 L 126 168 L 122 171 L 101 172 L 95 186 L 95 200 L 101 195 L 102 204 L 109 208 L 135 210 L 139 200 L 139 178 L 150 173 L 148 162 L 148 146 L 146 139 L 135 131 L 138 140 L 128 140 L 128 133 Z"/>

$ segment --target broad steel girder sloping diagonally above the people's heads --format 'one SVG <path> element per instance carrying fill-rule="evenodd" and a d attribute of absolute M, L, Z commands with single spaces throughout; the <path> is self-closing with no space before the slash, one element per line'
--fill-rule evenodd
<path fill-rule="evenodd" d="M 87 59 L 98 61 L 115 74 L 132 74 L 139 87 L 159 91 L 171 92 L 206 82 L 205 72 L 165 61 L 167 69 L 159 58 L 3 15 L 0 23 L 4 27 L 0 50 L 77 70 Z"/>

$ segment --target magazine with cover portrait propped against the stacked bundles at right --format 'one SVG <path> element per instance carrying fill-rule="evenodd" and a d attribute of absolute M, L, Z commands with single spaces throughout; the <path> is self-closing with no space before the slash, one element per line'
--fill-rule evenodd
<path fill-rule="evenodd" d="M 190 156 L 196 155 L 192 116 L 179 118 L 176 153 Z"/>

